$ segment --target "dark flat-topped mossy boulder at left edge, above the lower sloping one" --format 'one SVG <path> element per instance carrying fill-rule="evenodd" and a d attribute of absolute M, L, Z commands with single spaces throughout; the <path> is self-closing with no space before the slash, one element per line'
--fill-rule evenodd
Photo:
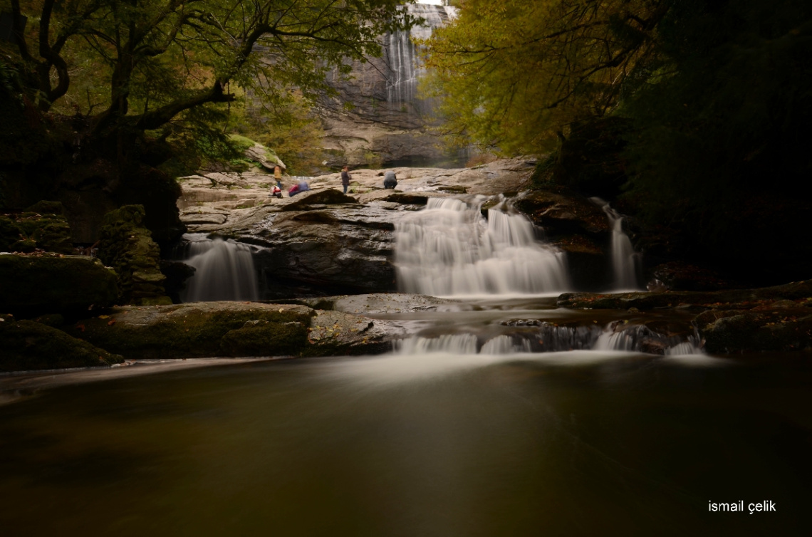
<path fill-rule="evenodd" d="M 113 271 L 92 258 L 0 255 L 0 311 L 22 317 L 76 314 L 118 296 Z"/>

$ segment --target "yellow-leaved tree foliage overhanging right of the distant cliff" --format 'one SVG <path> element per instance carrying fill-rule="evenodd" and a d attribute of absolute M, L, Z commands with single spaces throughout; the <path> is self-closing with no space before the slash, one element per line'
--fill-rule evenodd
<path fill-rule="evenodd" d="M 651 54 L 667 0 L 465 0 L 426 41 L 430 93 L 449 132 L 506 154 L 547 149 L 578 119 L 605 115 Z"/>

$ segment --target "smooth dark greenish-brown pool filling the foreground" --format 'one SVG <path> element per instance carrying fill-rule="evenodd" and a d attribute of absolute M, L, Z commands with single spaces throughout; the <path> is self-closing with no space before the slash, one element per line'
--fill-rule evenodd
<path fill-rule="evenodd" d="M 0 535 L 810 535 L 810 387 L 596 351 L 67 386 L 0 406 Z"/>

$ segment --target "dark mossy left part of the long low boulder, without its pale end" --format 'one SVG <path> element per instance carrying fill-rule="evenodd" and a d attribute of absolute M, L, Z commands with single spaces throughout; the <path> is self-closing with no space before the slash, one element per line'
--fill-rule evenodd
<path fill-rule="evenodd" d="M 288 355 L 304 348 L 312 311 L 302 305 L 256 302 L 125 306 L 65 330 L 127 358 Z M 246 325 L 251 322 L 258 327 Z M 289 323 L 300 323 L 301 328 Z M 241 344 L 240 336 L 248 340 Z"/>

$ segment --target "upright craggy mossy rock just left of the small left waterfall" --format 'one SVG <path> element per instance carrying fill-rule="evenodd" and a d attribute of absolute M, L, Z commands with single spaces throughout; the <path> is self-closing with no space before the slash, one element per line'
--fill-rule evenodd
<path fill-rule="evenodd" d="M 120 300 L 128 304 L 171 304 L 160 269 L 161 251 L 143 226 L 144 207 L 123 206 L 107 213 L 99 239 L 99 258 L 119 274 Z"/>

